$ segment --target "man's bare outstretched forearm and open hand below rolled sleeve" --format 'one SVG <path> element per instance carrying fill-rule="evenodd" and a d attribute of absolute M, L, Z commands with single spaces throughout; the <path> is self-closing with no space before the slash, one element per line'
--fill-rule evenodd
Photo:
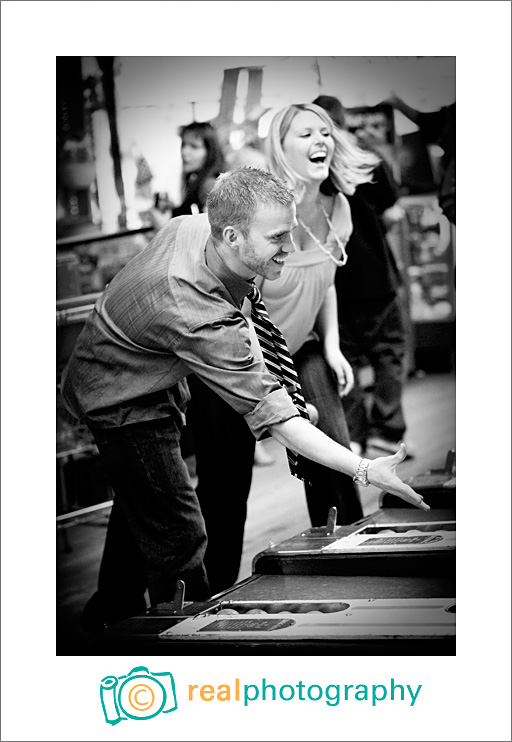
<path fill-rule="evenodd" d="M 361 457 L 347 448 L 335 443 L 331 438 L 315 428 L 302 417 L 292 417 L 270 428 L 271 435 L 287 448 L 296 451 L 318 464 L 353 477 Z M 405 459 L 406 449 L 402 443 L 393 456 L 381 456 L 370 461 L 368 481 L 386 492 L 401 497 L 422 510 L 430 510 L 412 487 L 397 476 L 396 467 Z"/>

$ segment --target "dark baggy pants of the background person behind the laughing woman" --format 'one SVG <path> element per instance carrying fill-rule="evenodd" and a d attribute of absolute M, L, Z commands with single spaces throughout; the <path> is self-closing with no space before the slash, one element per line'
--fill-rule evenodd
<path fill-rule="evenodd" d="M 354 369 L 356 382 L 343 404 L 350 435 L 363 448 L 371 435 L 398 442 L 405 432 L 402 411 L 405 327 L 397 297 L 368 302 L 338 302 L 340 347 Z M 374 371 L 373 403 L 368 412 L 357 370 Z"/>

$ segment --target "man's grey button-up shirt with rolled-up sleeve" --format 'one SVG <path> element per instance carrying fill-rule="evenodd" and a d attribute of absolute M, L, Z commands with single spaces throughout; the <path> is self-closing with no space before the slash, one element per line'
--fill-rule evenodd
<path fill-rule="evenodd" d="M 67 408 L 93 428 L 167 417 L 183 408 L 193 372 L 256 438 L 298 415 L 251 349 L 241 311 L 250 289 L 218 252 L 206 214 L 172 219 L 87 318 L 62 377 Z"/>

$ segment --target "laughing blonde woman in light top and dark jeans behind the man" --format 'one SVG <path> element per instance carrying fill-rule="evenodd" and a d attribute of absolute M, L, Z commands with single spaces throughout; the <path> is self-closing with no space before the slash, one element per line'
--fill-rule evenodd
<path fill-rule="evenodd" d="M 371 181 L 378 163 L 350 134 L 335 129 L 329 115 L 314 104 L 291 105 L 273 119 L 267 137 L 269 170 L 296 193 L 296 252 L 275 281 L 260 281 L 267 311 L 283 333 L 307 402 L 319 413 L 317 426 L 345 447 L 350 435 L 341 398 L 354 377 L 339 346 L 334 277 L 346 260 L 352 232 L 345 194 Z M 309 462 L 308 462 L 309 464 Z M 311 462 L 305 484 L 313 526 L 325 525 L 329 508 L 338 523 L 362 516 L 350 477 Z"/>

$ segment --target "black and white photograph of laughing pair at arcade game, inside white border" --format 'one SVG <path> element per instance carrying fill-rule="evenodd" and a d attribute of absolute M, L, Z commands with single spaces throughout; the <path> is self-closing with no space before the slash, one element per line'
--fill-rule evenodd
<path fill-rule="evenodd" d="M 455 58 L 56 91 L 58 653 L 454 655 Z"/>

